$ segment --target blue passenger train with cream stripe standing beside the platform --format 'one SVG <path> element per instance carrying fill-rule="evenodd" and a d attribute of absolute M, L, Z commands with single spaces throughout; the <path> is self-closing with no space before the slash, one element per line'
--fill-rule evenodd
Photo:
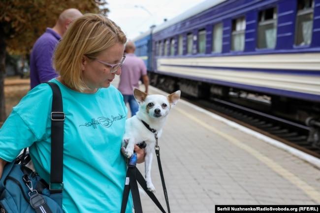
<path fill-rule="evenodd" d="M 320 0 L 206 0 L 134 41 L 165 91 L 320 119 Z"/>

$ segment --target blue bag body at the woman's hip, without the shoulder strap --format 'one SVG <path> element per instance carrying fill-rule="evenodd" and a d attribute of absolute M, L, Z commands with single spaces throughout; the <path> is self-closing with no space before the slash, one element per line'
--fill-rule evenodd
<path fill-rule="evenodd" d="M 4 167 L 0 192 L 0 213 L 63 213 L 62 193 L 51 194 L 48 184 L 18 158 Z"/>

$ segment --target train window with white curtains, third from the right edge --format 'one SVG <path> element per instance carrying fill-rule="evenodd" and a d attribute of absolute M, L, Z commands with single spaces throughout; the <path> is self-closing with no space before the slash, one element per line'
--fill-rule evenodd
<path fill-rule="evenodd" d="M 232 38 L 231 49 L 234 51 L 243 51 L 245 47 L 246 19 L 241 17 L 232 20 Z"/>

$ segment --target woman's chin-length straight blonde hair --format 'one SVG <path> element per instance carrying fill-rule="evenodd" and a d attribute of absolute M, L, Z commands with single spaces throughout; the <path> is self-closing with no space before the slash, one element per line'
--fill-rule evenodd
<path fill-rule="evenodd" d="M 66 30 L 56 47 L 53 66 L 66 86 L 84 91 L 88 87 L 82 79 L 82 58 L 95 58 L 102 51 L 126 41 L 125 33 L 107 17 L 85 14 L 74 20 Z"/>

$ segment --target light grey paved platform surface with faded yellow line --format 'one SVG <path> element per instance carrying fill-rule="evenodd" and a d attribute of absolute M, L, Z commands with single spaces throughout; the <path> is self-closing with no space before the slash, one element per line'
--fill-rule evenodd
<path fill-rule="evenodd" d="M 223 204 L 320 204 L 318 168 L 185 101 L 170 112 L 159 145 L 172 213 L 214 213 Z M 144 165 L 138 168 L 144 174 Z M 165 208 L 156 157 L 152 179 Z M 147 196 L 142 205 L 160 213 Z"/>

